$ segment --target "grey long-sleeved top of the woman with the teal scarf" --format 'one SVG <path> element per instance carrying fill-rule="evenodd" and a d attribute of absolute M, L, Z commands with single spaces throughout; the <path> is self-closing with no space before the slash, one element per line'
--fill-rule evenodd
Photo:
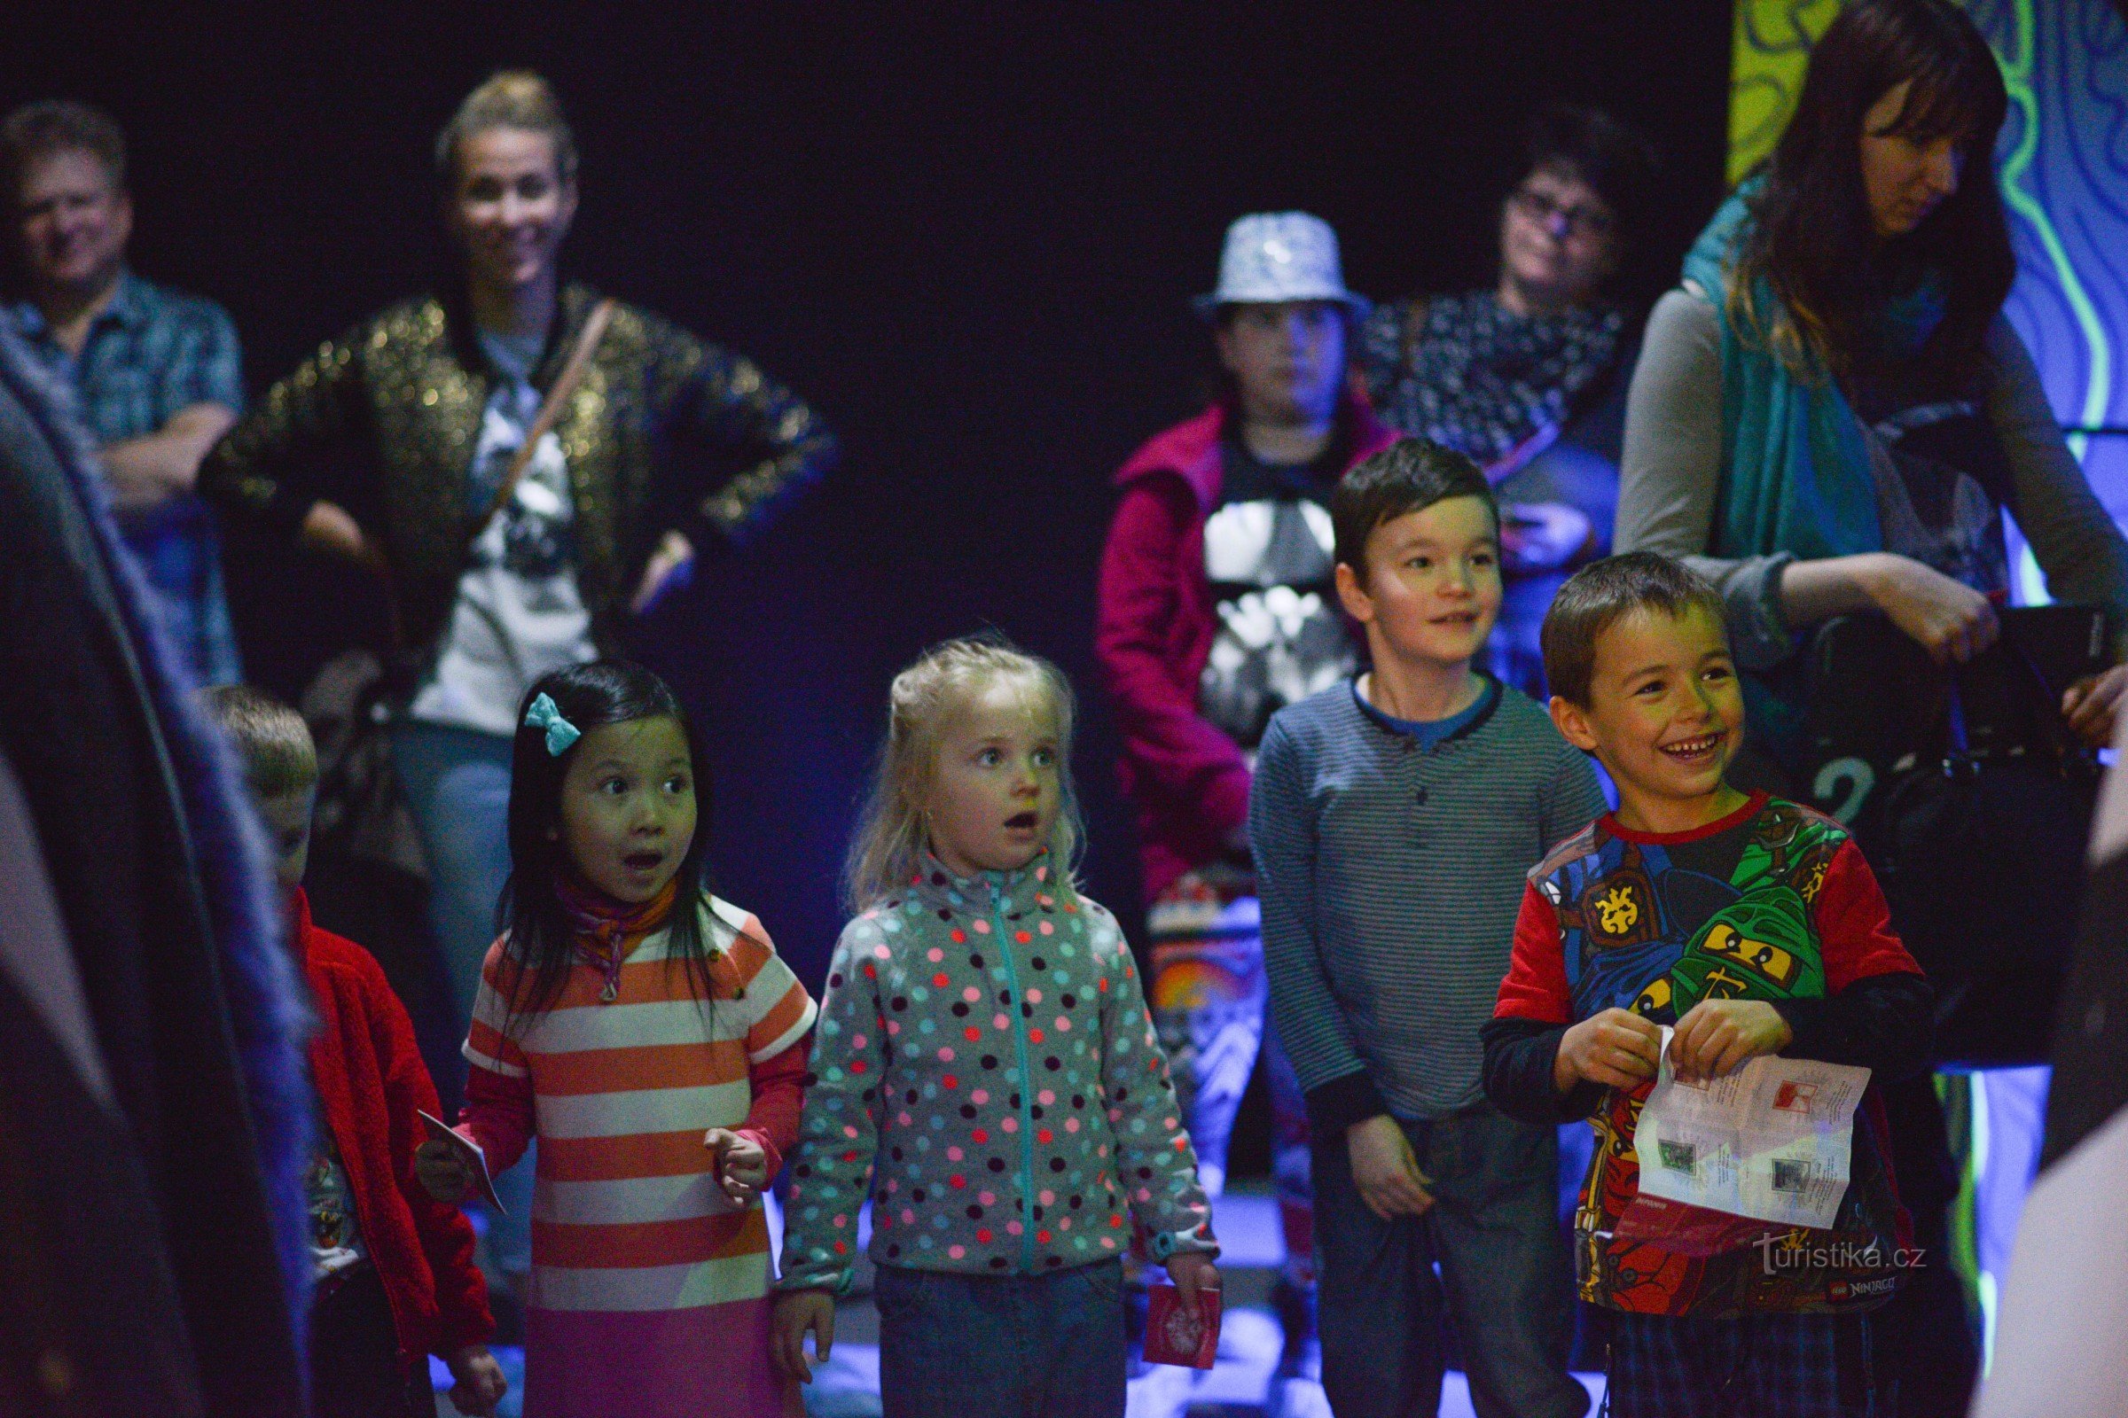
<path fill-rule="evenodd" d="M 2128 636 L 2128 542 L 2062 442 L 2024 340 L 2000 315 L 1988 330 L 1983 412 L 2009 459 L 2017 519 L 2062 602 L 2105 606 Z M 1711 557 L 1722 491 L 1722 325 L 1713 302 L 1681 287 L 1656 302 L 1626 395 L 1617 551 L 1658 551 L 1715 583 L 1728 604 L 1736 663 L 1768 670 L 1796 638 L 1781 610 L 1788 553 Z"/>

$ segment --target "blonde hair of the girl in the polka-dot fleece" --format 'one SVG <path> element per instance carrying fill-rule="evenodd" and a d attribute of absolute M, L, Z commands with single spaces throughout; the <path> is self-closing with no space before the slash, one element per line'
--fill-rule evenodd
<path fill-rule="evenodd" d="M 872 791 L 849 844 L 843 874 L 847 904 L 866 910 L 909 887 L 924 867 L 930 838 L 924 808 L 932 793 L 938 744 L 968 702 L 998 680 L 1024 685 L 1055 719 L 1058 821 L 1049 829 L 1051 878 L 1075 889 L 1083 827 L 1070 780 L 1070 733 L 1077 706 L 1064 672 L 1038 655 L 1015 648 L 1004 636 L 947 640 L 924 651 L 894 676 L 887 691 L 887 742 L 879 750 Z"/>

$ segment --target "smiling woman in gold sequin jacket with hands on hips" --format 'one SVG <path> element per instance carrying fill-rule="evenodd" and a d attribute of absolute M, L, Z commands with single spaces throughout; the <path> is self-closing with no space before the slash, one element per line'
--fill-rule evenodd
<path fill-rule="evenodd" d="M 387 580 L 409 670 L 394 765 L 464 1027 L 509 878 L 528 685 L 613 653 L 698 544 L 760 527 L 834 442 L 751 361 L 619 304 L 502 497 L 600 304 L 555 274 L 577 151 L 547 83 L 504 72 L 445 125 L 436 166 L 464 285 L 323 344 L 215 449 L 200 489 L 236 521 Z M 370 476 L 343 506 L 323 472 L 349 453 Z M 530 1167 L 515 1176 L 489 1231 L 504 1286 L 530 1259 Z"/>

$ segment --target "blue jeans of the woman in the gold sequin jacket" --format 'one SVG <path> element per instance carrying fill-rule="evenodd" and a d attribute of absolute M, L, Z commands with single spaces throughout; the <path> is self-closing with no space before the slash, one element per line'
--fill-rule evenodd
<path fill-rule="evenodd" d="M 392 765 L 428 855 L 428 925 L 464 1037 L 511 876 L 511 740 L 409 719 L 392 727 Z M 528 1150 L 496 1178 L 506 1210 L 489 1216 L 487 1252 L 504 1271 L 532 1267 L 532 1167 Z"/>

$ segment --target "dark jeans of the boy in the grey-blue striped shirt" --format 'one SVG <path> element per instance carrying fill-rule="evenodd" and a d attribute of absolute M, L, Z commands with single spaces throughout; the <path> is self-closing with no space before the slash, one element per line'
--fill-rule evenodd
<path fill-rule="evenodd" d="M 1402 1122 L 1432 1182 L 1424 1216 L 1366 1210 L 1345 1140 L 1315 1148 L 1317 1327 L 1339 1418 L 1441 1409 L 1443 1303 L 1479 1418 L 1581 1418 L 1566 1371 L 1573 1290 L 1558 1227 L 1558 1133 L 1477 1105 Z M 1434 1265 L 1441 1273 L 1434 1273 Z"/>

